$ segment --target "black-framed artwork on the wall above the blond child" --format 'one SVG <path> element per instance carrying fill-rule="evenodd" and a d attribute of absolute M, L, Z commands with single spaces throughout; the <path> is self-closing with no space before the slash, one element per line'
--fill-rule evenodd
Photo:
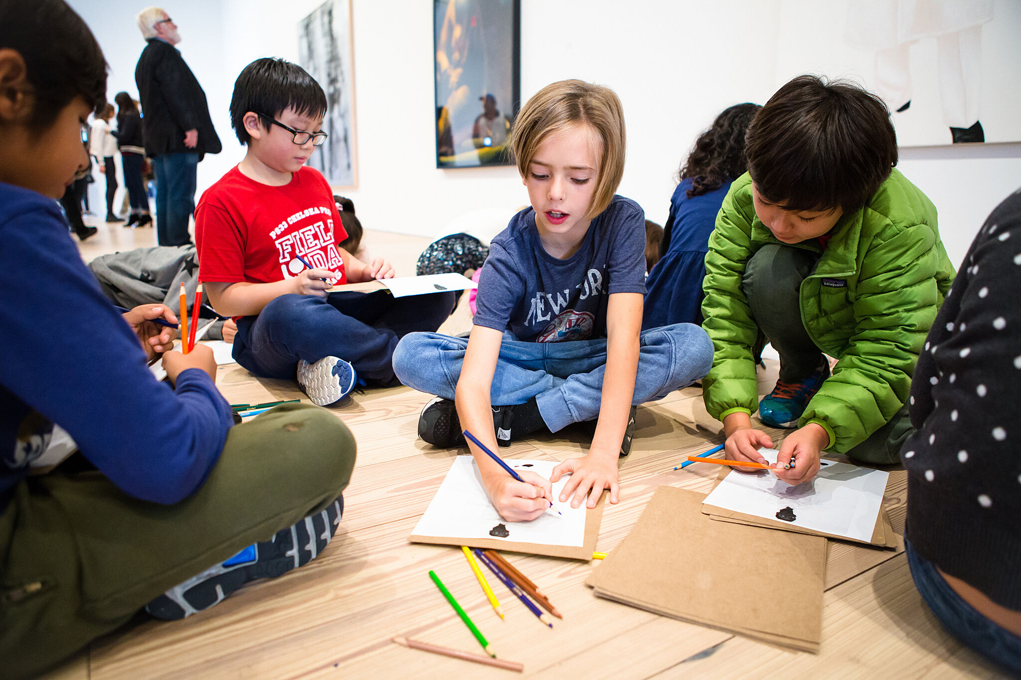
<path fill-rule="evenodd" d="M 520 36 L 521 0 L 433 0 L 436 167 L 509 164 Z"/>

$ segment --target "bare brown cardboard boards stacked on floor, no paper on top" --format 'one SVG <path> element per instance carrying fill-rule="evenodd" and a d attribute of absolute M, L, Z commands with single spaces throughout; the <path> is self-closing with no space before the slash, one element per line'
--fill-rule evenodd
<path fill-rule="evenodd" d="M 601 597 L 818 652 L 826 539 L 713 521 L 704 498 L 659 487 L 586 583 Z"/>

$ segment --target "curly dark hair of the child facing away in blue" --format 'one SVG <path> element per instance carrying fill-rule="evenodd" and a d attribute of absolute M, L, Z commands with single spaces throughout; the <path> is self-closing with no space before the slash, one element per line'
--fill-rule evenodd
<path fill-rule="evenodd" d="M 744 133 L 747 130 L 759 104 L 745 102 L 724 109 L 702 133 L 687 160 L 681 165 L 678 179 L 691 177 L 688 198 L 716 191 L 725 181 L 733 181 L 748 169 L 744 158 Z"/>

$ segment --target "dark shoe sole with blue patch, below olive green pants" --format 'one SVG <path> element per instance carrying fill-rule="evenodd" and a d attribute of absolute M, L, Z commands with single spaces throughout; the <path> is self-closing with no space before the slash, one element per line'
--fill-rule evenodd
<path fill-rule="evenodd" d="M 341 495 L 323 512 L 171 588 L 146 605 L 145 611 L 157 619 L 177 621 L 209 609 L 249 581 L 276 578 L 302 566 L 330 544 L 343 512 Z"/>

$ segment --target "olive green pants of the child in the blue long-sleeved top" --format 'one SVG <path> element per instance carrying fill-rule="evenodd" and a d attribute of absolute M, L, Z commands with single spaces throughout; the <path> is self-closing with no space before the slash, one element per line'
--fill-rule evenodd
<path fill-rule="evenodd" d="M 173 506 L 132 499 L 95 470 L 28 478 L 0 514 L 0 676 L 45 670 L 164 590 L 325 510 L 354 453 L 336 416 L 291 404 L 234 427 L 202 487 Z"/>

